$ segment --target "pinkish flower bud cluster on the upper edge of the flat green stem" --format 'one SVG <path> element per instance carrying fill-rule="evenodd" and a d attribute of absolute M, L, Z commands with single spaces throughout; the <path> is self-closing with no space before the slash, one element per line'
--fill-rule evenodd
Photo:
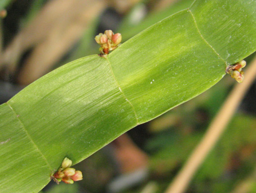
<path fill-rule="evenodd" d="M 105 55 L 118 47 L 122 41 L 122 35 L 114 34 L 112 30 L 105 30 L 104 34 L 95 36 L 95 41 L 100 44 L 100 53 Z"/>

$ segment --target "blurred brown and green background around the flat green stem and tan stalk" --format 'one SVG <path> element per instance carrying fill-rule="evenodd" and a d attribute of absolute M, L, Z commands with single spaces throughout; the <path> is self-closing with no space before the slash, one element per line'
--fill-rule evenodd
<path fill-rule="evenodd" d="M 0 103 L 55 68 L 98 54 L 95 35 L 111 29 L 125 42 L 192 2 L 0 0 Z M 225 76 L 205 93 L 133 128 L 77 164 L 82 181 L 50 182 L 41 193 L 164 192 L 236 84 Z M 186 192 L 237 192 L 244 184 L 244 192 L 256 192 L 255 95 L 254 82 Z"/>

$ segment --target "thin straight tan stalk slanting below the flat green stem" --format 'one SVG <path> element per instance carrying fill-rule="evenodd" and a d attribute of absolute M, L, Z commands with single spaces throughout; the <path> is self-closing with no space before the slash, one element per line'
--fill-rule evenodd
<path fill-rule="evenodd" d="M 189 182 L 196 173 L 197 169 L 204 162 L 209 151 L 213 149 L 214 145 L 217 143 L 220 135 L 222 135 L 229 120 L 231 120 L 242 98 L 244 98 L 246 91 L 249 89 L 250 85 L 253 84 L 255 76 L 256 58 L 254 58 L 254 61 L 245 72 L 244 82 L 237 84 L 235 88 L 233 88 L 228 98 L 222 105 L 222 108 L 220 108 L 217 116 L 211 122 L 205 136 L 196 146 L 195 150 L 193 150 L 186 164 L 174 178 L 173 182 L 167 188 L 165 193 L 182 193 L 186 191 Z"/>

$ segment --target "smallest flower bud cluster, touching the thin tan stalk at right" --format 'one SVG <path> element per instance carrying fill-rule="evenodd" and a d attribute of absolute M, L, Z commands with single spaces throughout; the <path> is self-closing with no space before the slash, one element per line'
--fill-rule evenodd
<path fill-rule="evenodd" d="M 226 68 L 226 72 L 231 75 L 233 79 L 237 82 L 241 83 L 244 80 L 244 71 L 242 68 L 246 66 L 246 62 L 244 60 L 237 62 L 235 65 L 228 66 Z"/>

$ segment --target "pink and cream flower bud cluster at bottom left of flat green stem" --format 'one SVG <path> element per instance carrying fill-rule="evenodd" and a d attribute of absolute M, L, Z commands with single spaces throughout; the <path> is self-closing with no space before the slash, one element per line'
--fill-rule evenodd
<path fill-rule="evenodd" d="M 72 160 L 68 158 L 63 160 L 61 167 L 53 175 L 53 177 L 56 179 L 56 182 L 63 181 L 65 183 L 74 183 L 74 181 L 83 179 L 82 172 L 76 171 L 74 168 L 70 168 L 71 165 Z"/>

